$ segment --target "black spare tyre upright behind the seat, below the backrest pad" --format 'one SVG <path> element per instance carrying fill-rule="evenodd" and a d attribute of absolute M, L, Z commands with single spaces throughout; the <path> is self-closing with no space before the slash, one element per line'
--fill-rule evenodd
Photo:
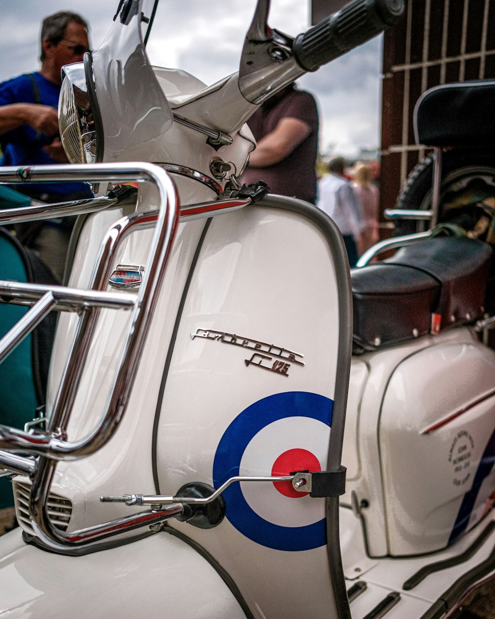
<path fill-rule="evenodd" d="M 431 207 L 433 179 L 433 154 L 418 163 L 402 186 L 396 209 L 423 209 Z M 449 202 L 456 193 L 464 191 L 471 183 L 481 181 L 493 190 L 495 196 L 495 152 L 493 148 L 446 149 L 442 152 L 442 184 L 439 222 L 444 222 L 442 204 Z M 423 232 L 428 222 L 397 220 L 395 236 Z"/>

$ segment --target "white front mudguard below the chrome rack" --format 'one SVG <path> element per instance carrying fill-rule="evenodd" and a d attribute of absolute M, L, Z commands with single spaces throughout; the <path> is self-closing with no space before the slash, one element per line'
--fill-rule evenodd
<path fill-rule="evenodd" d="M 84 556 L 40 552 L 20 530 L 0 540 L 0 617 L 245 619 L 209 557 L 168 532 Z M 189 583 L 189 585 L 187 584 Z"/>

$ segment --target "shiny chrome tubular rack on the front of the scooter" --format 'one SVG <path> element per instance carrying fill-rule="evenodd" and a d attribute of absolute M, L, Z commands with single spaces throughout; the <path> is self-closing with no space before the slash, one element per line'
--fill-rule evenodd
<path fill-rule="evenodd" d="M 94 546 L 95 542 L 111 535 L 163 522 L 183 511 L 183 506 L 173 504 L 87 529 L 63 532 L 49 520 L 46 504 L 57 462 L 93 454 L 108 443 L 123 419 L 163 283 L 179 217 L 181 220 L 210 217 L 246 206 L 251 199 L 248 197 L 205 202 L 186 206 L 179 211 L 178 196 L 170 177 L 162 168 L 151 163 L 40 165 L 0 169 L 0 183 L 25 183 L 27 180 L 77 180 L 113 184 L 139 181 L 153 183 L 160 196 L 158 211 L 124 216 L 108 230 L 101 243 L 88 290 L 0 281 L 0 295 L 3 300 L 31 306 L 23 318 L 0 340 L 0 362 L 51 310 L 77 311 L 79 314 L 79 322 L 46 431 L 21 431 L 0 425 L 0 450 L 5 450 L 0 451 L 0 467 L 15 474 L 28 475 L 32 481 L 29 512 L 35 534 L 43 546 L 55 552 L 67 553 L 70 549 L 82 548 L 88 544 Z M 0 210 L 0 225 L 96 212 L 113 206 L 116 202 L 117 199 L 106 197 Z M 108 279 L 121 242 L 131 232 L 151 227 L 155 227 L 155 233 L 144 279 L 138 292 L 107 292 Z M 84 438 L 69 441 L 67 426 L 101 308 L 130 311 L 131 320 L 100 422 Z M 21 456 L 20 453 L 26 456 Z"/>

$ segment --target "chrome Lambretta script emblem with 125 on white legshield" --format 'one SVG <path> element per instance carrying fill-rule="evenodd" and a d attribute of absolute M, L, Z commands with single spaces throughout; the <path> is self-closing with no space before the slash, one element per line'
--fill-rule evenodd
<path fill-rule="evenodd" d="M 289 375 L 290 366 L 293 363 L 296 365 L 304 365 L 303 361 L 301 361 L 304 355 L 299 355 L 299 353 L 293 352 L 293 350 L 287 350 L 287 348 L 283 348 L 282 346 L 259 342 L 258 340 L 242 337 L 235 333 L 225 333 L 223 331 L 214 331 L 213 329 L 196 329 L 196 333 L 191 333 L 191 339 L 194 340 L 195 337 L 217 340 L 217 342 L 252 350 L 254 352 L 251 358 L 244 359 L 246 366 L 249 367 L 250 365 L 254 365 L 262 370 L 277 372 L 282 376 Z"/>

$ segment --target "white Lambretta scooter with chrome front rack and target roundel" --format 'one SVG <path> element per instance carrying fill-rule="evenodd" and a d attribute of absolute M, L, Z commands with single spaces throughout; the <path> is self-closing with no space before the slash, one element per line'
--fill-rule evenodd
<path fill-rule="evenodd" d="M 45 421 L 0 426 L 20 524 L 0 615 L 434 619 L 495 573 L 495 353 L 473 328 L 491 249 L 424 240 L 358 269 L 353 318 L 332 220 L 237 178 L 256 106 L 402 2 L 355 0 L 295 40 L 268 9 L 239 73 L 205 87 L 150 66 L 149 15 L 121 0 L 64 67 L 75 165 L 0 171 L 99 190 L 0 212 L 82 214 L 67 286 L 0 282 L 31 306 L 0 360 L 59 312 Z"/>

